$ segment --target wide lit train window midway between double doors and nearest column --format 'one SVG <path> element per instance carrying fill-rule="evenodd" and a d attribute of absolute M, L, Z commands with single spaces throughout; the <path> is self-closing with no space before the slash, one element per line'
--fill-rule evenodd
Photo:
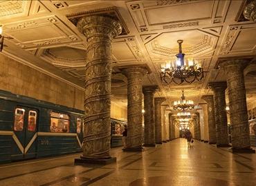
<path fill-rule="evenodd" d="M 69 123 L 68 114 L 51 112 L 51 132 L 69 132 Z"/>

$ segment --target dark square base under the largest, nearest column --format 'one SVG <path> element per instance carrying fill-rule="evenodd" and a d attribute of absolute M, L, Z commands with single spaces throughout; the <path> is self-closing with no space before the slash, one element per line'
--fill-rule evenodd
<path fill-rule="evenodd" d="M 93 159 L 93 158 L 83 158 L 81 156 L 81 158 L 75 158 L 75 165 L 80 165 L 80 164 L 108 165 L 110 163 L 116 163 L 116 157 Z"/>

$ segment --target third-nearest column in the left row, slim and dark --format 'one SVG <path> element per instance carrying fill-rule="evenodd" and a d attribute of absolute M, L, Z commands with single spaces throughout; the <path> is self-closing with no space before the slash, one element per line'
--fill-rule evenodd
<path fill-rule="evenodd" d="M 145 147 L 156 146 L 155 142 L 155 110 L 154 110 L 154 93 L 158 86 L 143 87 L 144 94 L 144 145 Z"/>

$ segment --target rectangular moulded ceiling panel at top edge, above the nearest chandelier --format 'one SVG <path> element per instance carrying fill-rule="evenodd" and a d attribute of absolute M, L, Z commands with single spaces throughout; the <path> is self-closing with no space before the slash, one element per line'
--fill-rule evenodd
<path fill-rule="evenodd" d="M 127 8 L 138 31 L 147 32 L 222 23 L 229 3 L 230 1 L 131 1 L 127 2 Z"/>

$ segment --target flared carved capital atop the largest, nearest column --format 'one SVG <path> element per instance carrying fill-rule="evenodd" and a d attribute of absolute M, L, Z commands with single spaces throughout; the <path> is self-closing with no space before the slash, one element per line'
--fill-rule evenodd
<path fill-rule="evenodd" d="M 80 18 L 77 21 L 77 28 L 87 39 L 95 35 L 113 39 L 122 32 L 122 25 L 118 21 L 99 15 Z"/>

